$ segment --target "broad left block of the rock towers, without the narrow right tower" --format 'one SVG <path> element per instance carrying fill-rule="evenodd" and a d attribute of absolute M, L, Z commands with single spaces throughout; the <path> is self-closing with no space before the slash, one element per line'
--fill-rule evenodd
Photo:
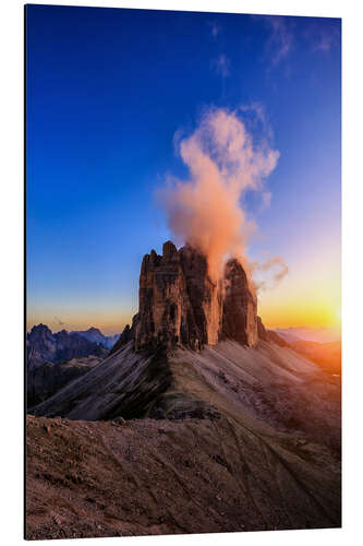
<path fill-rule="evenodd" d="M 221 299 L 204 256 L 168 241 L 162 256 L 144 257 L 140 275 L 135 348 L 182 344 L 199 349 L 218 341 Z"/>

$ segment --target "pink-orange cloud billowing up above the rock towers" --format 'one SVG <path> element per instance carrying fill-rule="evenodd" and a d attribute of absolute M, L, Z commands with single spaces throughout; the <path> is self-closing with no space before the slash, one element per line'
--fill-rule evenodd
<path fill-rule="evenodd" d="M 177 241 L 199 248 L 217 281 L 227 256 L 247 262 L 253 224 L 241 198 L 249 190 L 263 191 L 279 152 L 266 143 L 256 145 L 237 112 L 213 108 L 191 135 L 180 140 L 179 153 L 190 178 L 169 179 L 158 197 Z"/>

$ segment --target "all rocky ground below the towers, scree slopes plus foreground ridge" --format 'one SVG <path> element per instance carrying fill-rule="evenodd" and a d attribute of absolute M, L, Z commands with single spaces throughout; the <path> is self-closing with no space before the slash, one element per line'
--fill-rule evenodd
<path fill-rule="evenodd" d="M 340 526 L 340 390 L 315 364 L 231 341 L 135 358 L 37 407 L 69 418 L 27 417 L 27 538 Z"/>

